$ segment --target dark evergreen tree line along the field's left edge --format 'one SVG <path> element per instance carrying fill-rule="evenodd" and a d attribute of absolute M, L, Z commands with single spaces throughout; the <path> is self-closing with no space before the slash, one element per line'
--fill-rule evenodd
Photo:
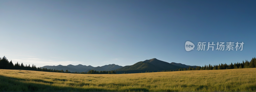
<path fill-rule="evenodd" d="M 4 56 L 3 58 L 0 57 L 0 69 L 17 69 L 17 70 L 33 70 L 33 71 L 44 71 L 44 72 L 58 72 L 58 73 L 73 73 L 73 74 L 116 74 L 115 71 L 96 71 L 96 70 L 90 70 L 88 72 L 70 72 L 68 70 L 55 70 L 55 69 L 47 69 L 47 68 L 41 68 L 37 67 L 36 65 L 32 64 L 26 64 L 23 63 L 15 63 L 13 64 L 12 60 L 9 62 L 9 60 Z"/>

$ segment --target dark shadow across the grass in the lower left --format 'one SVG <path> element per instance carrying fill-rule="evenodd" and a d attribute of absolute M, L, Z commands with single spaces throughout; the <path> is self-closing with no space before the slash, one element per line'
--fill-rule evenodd
<path fill-rule="evenodd" d="M 38 82 L 31 83 L 30 81 Z M 46 84 L 41 84 L 41 83 Z M 22 78 L 13 78 L 0 76 L 0 92 L 1 91 L 117 91 L 118 89 L 109 90 L 104 88 L 79 88 L 84 85 L 92 85 L 92 84 L 69 84 L 69 86 L 76 87 L 61 87 L 61 86 L 53 86 L 52 83 L 41 79 L 22 79 Z M 78 86 L 78 87 L 77 87 Z M 92 86 L 96 86 L 95 84 Z M 144 88 L 135 88 L 129 89 L 130 91 L 148 91 L 148 89 Z"/>

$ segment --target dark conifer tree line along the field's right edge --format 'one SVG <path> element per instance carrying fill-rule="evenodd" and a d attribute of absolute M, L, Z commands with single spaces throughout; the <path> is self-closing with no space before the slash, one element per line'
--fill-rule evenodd
<path fill-rule="evenodd" d="M 158 70 L 158 71 L 146 71 L 148 72 L 171 72 L 171 71 L 186 71 L 186 70 L 220 70 L 220 69 L 242 69 L 242 68 L 256 68 L 256 58 L 252 58 L 251 61 L 245 60 L 245 62 L 237 62 L 237 63 L 232 63 L 231 64 L 219 64 L 219 65 L 204 65 L 204 66 L 197 66 L 196 68 L 194 67 L 188 67 L 188 68 L 177 68 L 177 69 L 171 69 L 171 70 Z M 139 72 L 140 73 L 140 72 Z M 145 72 L 141 72 L 145 73 Z M 123 73 L 125 74 L 125 72 Z"/>

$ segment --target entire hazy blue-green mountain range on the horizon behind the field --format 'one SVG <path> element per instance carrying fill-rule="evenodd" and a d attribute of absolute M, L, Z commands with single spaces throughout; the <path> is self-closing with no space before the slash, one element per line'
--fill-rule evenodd
<path fill-rule="evenodd" d="M 188 67 L 194 67 L 196 68 L 197 66 L 190 66 L 190 65 L 185 65 L 181 63 L 168 63 L 164 62 L 161 60 L 158 60 L 156 58 L 145 60 L 145 61 L 140 61 L 137 62 L 133 65 L 130 66 L 119 66 L 116 64 L 109 64 L 109 65 L 104 65 L 104 66 L 98 66 L 98 67 L 93 67 L 91 65 L 86 66 L 86 65 L 58 65 L 58 66 L 44 66 L 42 68 L 47 68 L 47 69 L 57 69 L 61 70 L 69 70 L 70 72 L 88 72 L 89 70 L 96 70 L 96 71 L 110 71 L 114 70 L 116 73 L 141 73 L 141 72 L 146 72 L 146 71 L 158 71 L 158 70 L 171 70 L 171 69 L 177 69 L 177 68 L 188 68 Z"/>

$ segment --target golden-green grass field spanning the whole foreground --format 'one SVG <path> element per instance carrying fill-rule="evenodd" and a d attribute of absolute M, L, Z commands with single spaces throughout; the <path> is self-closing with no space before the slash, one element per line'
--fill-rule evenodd
<path fill-rule="evenodd" d="M 0 91 L 256 91 L 256 68 L 138 74 L 0 69 Z"/>

